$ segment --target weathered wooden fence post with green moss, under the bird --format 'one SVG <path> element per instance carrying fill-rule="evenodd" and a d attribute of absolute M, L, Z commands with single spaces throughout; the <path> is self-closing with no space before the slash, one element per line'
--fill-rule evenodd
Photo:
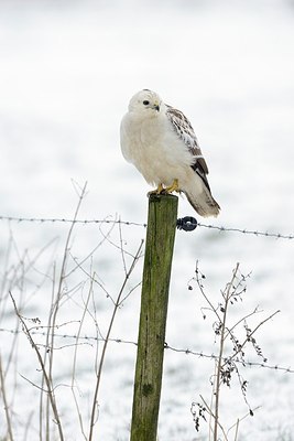
<path fill-rule="evenodd" d="M 131 441 L 156 441 L 176 219 L 176 196 L 150 196 Z"/>

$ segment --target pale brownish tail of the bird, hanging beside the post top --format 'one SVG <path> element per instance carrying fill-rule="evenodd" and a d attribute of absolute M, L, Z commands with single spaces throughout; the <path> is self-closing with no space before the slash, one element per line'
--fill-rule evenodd
<path fill-rule="evenodd" d="M 188 202 L 196 212 L 203 217 L 214 216 L 217 217 L 220 211 L 220 206 L 213 197 L 210 191 L 205 184 L 202 185 L 202 191 L 196 192 L 195 187 L 183 189 L 183 192 L 187 196 Z"/>

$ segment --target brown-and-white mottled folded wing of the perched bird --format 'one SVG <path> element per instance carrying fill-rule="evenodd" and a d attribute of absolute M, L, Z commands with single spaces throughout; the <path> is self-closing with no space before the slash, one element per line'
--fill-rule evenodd
<path fill-rule="evenodd" d="M 203 152 L 199 148 L 196 135 L 189 120 L 181 110 L 177 110 L 168 105 L 166 105 L 166 116 L 167 119 L 171 121 L 173 129 L 175 130 L 177 136 L 185 142 L 189 152 L 195 159 L 195 162 L 192 164 L 193 170 L 198 173 L 208 190 L 210 190 L 206 178 L 206 175 L 208 174 L 208 166 L 203 157 Z"/>

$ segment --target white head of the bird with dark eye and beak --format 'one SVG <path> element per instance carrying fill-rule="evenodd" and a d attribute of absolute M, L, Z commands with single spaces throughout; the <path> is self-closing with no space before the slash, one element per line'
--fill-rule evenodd
<path fill-rule="evenodd" d="M 129 111 L 152 117 L 160 114 L 162 106 L 163 101 L 155 92 L 143 89 L 131 98 Z"/>

